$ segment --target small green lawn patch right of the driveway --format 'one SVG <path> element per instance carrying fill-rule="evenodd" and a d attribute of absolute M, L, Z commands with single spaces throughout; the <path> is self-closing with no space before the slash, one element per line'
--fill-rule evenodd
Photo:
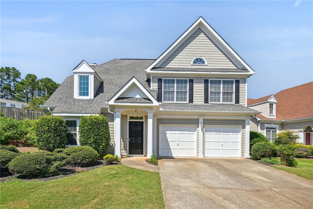
<path fill-rule="evenodd" d="M 288 173 L 296 174 L 297 176 L 313 180 L 313 159 L 296 158 L 298 165 L 296 168 L 285 166 L 272 166 L 275 169 L 284 170 Z"/>

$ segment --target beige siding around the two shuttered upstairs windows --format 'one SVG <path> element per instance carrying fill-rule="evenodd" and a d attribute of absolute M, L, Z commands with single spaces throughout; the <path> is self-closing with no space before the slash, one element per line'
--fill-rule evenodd
<path fill-rule="evenodd" d="M 152 89 L 157 89 L 157 79 L 162 77 L 152 77 Z M 234 79 L 239 80 L 239 104 L 246 105 L 246 78 L 203 78 L 203 77 L 169 77 L 166 78 L 190 78 L 193 79 L 193 103 L 204 104 L 204 79 Z"/>

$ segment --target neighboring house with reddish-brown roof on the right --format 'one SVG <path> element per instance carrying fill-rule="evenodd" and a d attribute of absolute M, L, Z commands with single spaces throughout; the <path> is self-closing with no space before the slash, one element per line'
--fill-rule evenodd
<path fill-rule="evenodd" d="M 248 107 L 262 113 L 250 121 L 250 130 L 259 131 L 271 142 L 278 131 L 296 131 L 299 142 L 312 145 L 313 82 L 305 83 L 259 99 L 248 99 Z"/>

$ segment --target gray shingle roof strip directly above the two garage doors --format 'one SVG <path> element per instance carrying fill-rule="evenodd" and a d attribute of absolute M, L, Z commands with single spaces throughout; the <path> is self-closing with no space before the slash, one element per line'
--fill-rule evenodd
<path fill-rule="evenodd" d="M 249 107 L 243 105 L 216 105 L 216 104 L 177 104 L 177 103 L 162 103 L 160 110 L 181 110 L 181 111 L 217 111 L 217 112 L 246 112 L 259 113 Z"/>

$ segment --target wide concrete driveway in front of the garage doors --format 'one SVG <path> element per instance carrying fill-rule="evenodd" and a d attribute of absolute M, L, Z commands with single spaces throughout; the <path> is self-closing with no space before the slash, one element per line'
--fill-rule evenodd
<path fill-rule="evenodd" d="M 313 181 L 244 158 L 159 160 L 166 208 L 313 208 Z"/>

